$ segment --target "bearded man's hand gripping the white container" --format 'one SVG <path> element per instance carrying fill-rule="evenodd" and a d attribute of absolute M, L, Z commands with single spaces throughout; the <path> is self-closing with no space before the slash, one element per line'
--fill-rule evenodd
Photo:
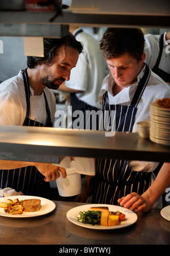
<path fill-rule="evenodd" d="M 59 171 L 62 173 L 63 178 L 66 177 L 66 170 L 63 167 L 54 166 L 50 163 L 35 163 L 33 165 L 45 176 L 44 180 L 46 182 L 58 179 L 60 176 Z"/>

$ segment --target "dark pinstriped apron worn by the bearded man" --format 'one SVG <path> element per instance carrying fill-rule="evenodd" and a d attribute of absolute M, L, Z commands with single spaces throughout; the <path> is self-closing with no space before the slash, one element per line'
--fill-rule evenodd
<path fill-rule="evenodd" d="M 25 95 L 27 101 L 27 113 L 23 126 L 39 126 L 39 127 L 52 127 L 52 121 L 50 118 L 50 110 L 48 106 L 48 101 L 44 92 L 47 121 L 46 125 L 37 122 L 35 120 L 29 119 L 29 80 L 27 69 L 23 73 Z M 29 196 L 41 196 L 50 199 L 50 185 L 49 182 L 44 181 L 44 176 L 37 170 L 35 166 L 27 166 L 22 168 L 17 168 L 14 170 L 0 170 L 0 187 L 6 188 L 10 187 L 15 189 L 17 192 L 23 192 L 24 195 Z"/>

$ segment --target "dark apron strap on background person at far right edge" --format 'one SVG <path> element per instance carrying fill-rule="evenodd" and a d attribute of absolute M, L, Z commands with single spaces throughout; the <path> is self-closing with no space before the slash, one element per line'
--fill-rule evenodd
<path fill-rule="evenodd" d="M 165 82 L 170 82 L 170 74 L 163 71 L 162 69 L 159 68 L 159 63 L 162 57 L 162 52 L 163 52 L 163 44 L 164 44 L 164 34 L 160 36 L 159 40 L 159 55 L 156 60 L 154 68 L 152 68 L 152 71 L 156 73 L 158 76 L 160 76 Z"/>

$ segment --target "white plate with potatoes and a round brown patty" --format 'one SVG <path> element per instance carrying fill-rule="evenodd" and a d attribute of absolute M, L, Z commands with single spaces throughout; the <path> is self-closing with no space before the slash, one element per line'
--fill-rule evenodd
<path fill-rule="evenodd" d="M 0 216 L 12 218 L 37 217 L 56 208 L 53 201 L 37 196 L 0 197 Z"/>

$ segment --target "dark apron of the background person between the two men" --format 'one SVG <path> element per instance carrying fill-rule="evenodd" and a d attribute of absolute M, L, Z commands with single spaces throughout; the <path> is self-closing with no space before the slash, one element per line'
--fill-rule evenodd
<path fill-rule="evenodd" d="M 75 37 L 78 35 L 78 34 L 80 34 L 80 33 L 82 33 L 83 32 L 83 30 L 82 29 L 80 29 L 80 30 L 78 30 L 76 33 L 75 33 Z M 81 100 L 79 100 L 79 98 L 78 97 L 76 97 L 76 93 L 70 93 L 70 105 L 72 106 L 72 112 L 74 113 L 76 110 L 80 110 L 80 111 L 82 111 L 82 113 L 83 113 L 83 115 L 82 115 L 82 118 L 83 118 L 83 121 L 81 121 L 82 119 L 79 117 L 79 119 L 80 119 L 80 123 L 78 123 L 78 126 L 80 127 L 80 129 L 86 129 L 86 128 L 88 128 L 88 130 L 93 130 L 92 129 L 92 120 L 90 120 L 90 122 L 89 123 L 86 123 L 87 122 L 87 119 L 86 119 L 86 111 L 87 110 L 89 110 L 90 112 L 92 111 L 92 110 L 95 110 L 95 112 L 97 112 L 99 109 L 97 109 L 97 108 L 95 108 L 94 106 L 91 106 L 91 105 L 88 105 L 86 102 L 84 102 L 84 101 L 81 101 Z M 78 117 L 76 116 L 76 117 L 73 117 L 72 116 L 72 123 L 77 119 Z M 81 126 L 81 124 L 83 124 L 82 126 Z M 96 126 L 94 126 L 95 127 L 95 130 L 98 130 L 99 129 L 99 121 L 98 121 L 98 119 L 97 119 L 97 121 L 96 121 Z M 74 126 L 72 126 L 73 127 L 73 129 L 74 129 Z"/>

